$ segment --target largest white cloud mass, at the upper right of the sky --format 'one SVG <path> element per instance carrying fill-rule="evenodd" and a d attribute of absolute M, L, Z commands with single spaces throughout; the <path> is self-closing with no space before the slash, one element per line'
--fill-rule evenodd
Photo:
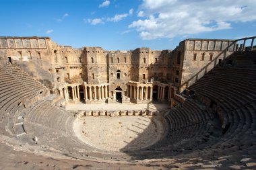
<path fill-rule="evenodd" d="M 173 38 L 232 28 L 232 22 L 256 19 L 255 0 L 143 0 L 138 19 L 129 25 L 144 40 Z"/>

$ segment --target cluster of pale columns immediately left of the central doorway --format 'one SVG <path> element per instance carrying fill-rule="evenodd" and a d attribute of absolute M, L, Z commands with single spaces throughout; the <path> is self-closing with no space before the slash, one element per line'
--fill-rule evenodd
<path fill-rule="evenodd" d="M 85 100 L 102 100 L 108 98 L 108 84 L 88 85 L 84 84 Z"/>

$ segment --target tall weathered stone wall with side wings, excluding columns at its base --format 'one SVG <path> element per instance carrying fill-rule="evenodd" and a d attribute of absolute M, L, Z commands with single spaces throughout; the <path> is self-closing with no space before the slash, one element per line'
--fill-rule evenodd
<path fill-rule="evenodd" d="M 53 91 L 63 83 L 109 83 L 109 96 L 118 87 L 127 95 L 129 81 L 151 79 L 182 91 L 232 54 L 235 45 L 233 40 L 188 39 L 173 51 L 105 51 L 59 46 L 48 37 L 0 37 L 0 63 L 18 65 Z"/>

